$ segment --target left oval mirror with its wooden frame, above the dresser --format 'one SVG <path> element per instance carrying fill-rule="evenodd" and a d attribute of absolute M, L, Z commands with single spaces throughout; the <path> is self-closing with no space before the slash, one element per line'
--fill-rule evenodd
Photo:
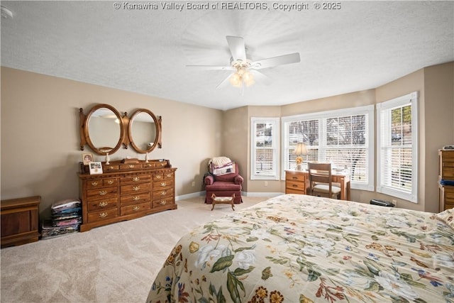
<path fill-rule="evenodd" d="M 84 125 L 87 144 L 98 155 L 115 153 L 123 142 L 123 121 L 109 104 L 98 104 L 87 114 Z"/>

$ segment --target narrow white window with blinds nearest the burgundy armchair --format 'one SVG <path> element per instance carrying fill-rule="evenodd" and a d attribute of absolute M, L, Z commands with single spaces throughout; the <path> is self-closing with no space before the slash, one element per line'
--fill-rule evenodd
<path fill-rule="evenodd" d="M 279 180 L 278 123 L 279 118 L 251 118 L 251 180 Z"/>

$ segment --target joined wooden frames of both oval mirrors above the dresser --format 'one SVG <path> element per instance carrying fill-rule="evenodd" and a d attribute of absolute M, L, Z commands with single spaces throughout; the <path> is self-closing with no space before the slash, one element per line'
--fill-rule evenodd
<path fill-rule="evenodd" d="M 112 155 L 116 153 L 116 151 L 121 147 L 123 144 L 125 149 L 128 149 L 128 145 L 131 143 L 131 146 L 137 153 L 150 153 L 152 150 L 155 148 L 162 148 L 162 126 L 161 126 L 161 121 L 162 121 L 162 116 L 155 116 L 152 111 L 149 109 L 137 109 L 133 113 L 133 116 L 131 116 L 131 119 L 128 117 L 128 114 L 125 112 L 123 117 L 121 116 L 120 112 L 117 111 L 114 106 L 111 106 L 109 104 L 96 104 L 95 106 L 92 107 L 92 109 L 89 110 L 88 114 L 84 114 L 84 109 L 80 108 L 79 109 L 79 133 L 80 133 L 80 150 L 84 150 L 85 145 L 89 145 L 89 148 L 93 150 L 94 153 L 97 155 L 107 155 L 107 151 L 103 149 L 103 147 L 96 147 L 94 146 L 92 140 L 90 139 L 89 136 L 89 120 L 94 111 L 97 109 L 101 108 L 106 108 L 110 109 L 111 111 L 114 112 L 114 114 L 117 116 L 118 121 L 120 121 L 120 137 L 118 138 L 118 143 L 115 145 L 115 147 L 111 150 L 109 150 L 109 155 Z M 155 126 L 156 126 L 156 138 L 155 142 L 153 143 L 153 146 L 150 146 L 147 150 L 141 150 L 138 148 L 138 145 L 132 140 L 133 139 L 133 133 L 132 133 L 132 124 L 133 124 L 133 119 L 135 116 L 137 116 L 140 113 L 147 113 L 149 114 L 152 118 L 153 121 L 155 121 Z"/>

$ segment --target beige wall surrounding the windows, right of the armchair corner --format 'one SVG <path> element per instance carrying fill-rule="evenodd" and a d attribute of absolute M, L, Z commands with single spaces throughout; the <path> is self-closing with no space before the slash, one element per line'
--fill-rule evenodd
<path fill-rule="evenodd" d="M 438 211 L 436 153 L 443 145 L 454 144 L 454 62 L 426 67 L 376 89 L 284 106 L 247 106 L 247 114 L 243 108 L 227 111 L 225 117 L 227 116 L 228 119 L 224 123 L 227 123 L 229 127 L 236 127 L 236 129 L 228 131 L 228 133 L 235 133 L 235 137 L 231 136 L 230 140 L 236 139 L 236 142 L 238 142 L 236 152 L 241 151 L 248 162 L 248 175 L 245 180 L 246 191 L 248 194 L 285 191 L 283 181 L 268 180 L 268 186 L 265 187 L 263 180 L 249 179 L 250 117 L 283 117 L 365 106 L 394 99 L 411 92 L 419 92 L 419 203 L 414 204 L 385 194 L 355 189 L 352 189 L 351 199 L 363 203 L 369 203 L 372 198 L 388 201 L 395 199 L 399 207 L 421 211 Z M 235 121 L 235 123 L 230 123 L 229 120 Z M 245 150 L 248 151 L 247 155 Z M 232 153 L 234 151 L 232 150 Z"/>

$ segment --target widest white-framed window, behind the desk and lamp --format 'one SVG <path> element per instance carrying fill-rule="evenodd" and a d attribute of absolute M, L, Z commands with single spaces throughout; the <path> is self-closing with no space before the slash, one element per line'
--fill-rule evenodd
<path fill-rule="evenodd" d="M 282 176 L 296 167 L 292 152 L 302 142 L 308 151 L 303 168 L 308 161 L 331 162 L 350 174 L 352 188 L 374 190 L 373 117 L 370 105 L 282 118 Z"/>

